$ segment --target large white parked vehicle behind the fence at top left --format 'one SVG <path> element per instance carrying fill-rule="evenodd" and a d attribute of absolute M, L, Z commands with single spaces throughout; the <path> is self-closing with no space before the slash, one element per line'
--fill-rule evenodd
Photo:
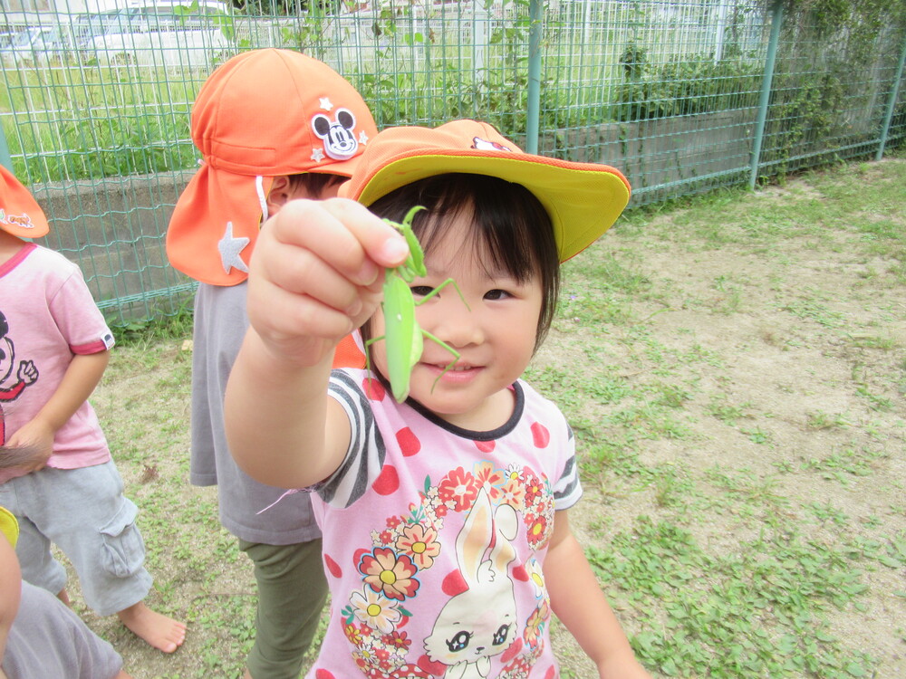
<path fill-rule="evenodd" d="M 217 0 L 131 0 L 82 16 L 79 53 L 109 65 L 207 67 L 230 47 L 218 23 L 228 12 Z"/>

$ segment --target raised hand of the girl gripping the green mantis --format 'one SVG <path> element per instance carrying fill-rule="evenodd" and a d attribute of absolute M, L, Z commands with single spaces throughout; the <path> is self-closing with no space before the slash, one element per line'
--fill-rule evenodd
<path fill-rule="evenodd" d="M 262 226 L 248 277 L 248 317 L 267 348 L 313 366 L 371 317 L 383 269 L 405 239 L 351 200 L 295 200 Z"/>

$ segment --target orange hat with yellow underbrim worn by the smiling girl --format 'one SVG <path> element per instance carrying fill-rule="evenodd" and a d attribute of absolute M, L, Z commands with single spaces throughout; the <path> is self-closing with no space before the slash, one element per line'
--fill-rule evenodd
<path fill-rule="evenodd" d="M 631 190 L 613 167 L 528 154 L 485 122 L 454 120 L 433 129 L 381 130 L 355 175 L 340 187 L 340 195 L 370 206 L 400 186 L 452 172 L 525 186 L 551 217 L 561 262 L 581 253 L 613 225 Z"/>

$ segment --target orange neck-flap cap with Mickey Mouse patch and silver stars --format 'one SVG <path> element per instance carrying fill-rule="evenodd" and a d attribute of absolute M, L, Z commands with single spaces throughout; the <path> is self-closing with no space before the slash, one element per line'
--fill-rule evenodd
<path fill-rule="evenodd" d="M 239 54 L 211 73 L 192 107 L 198 173 L 179 196 L 167 256 L 214 285 L 246 280 L 274 177 L 305 172 L 351 177 L 377 134 L 349 81 L 291 50 Z"/>

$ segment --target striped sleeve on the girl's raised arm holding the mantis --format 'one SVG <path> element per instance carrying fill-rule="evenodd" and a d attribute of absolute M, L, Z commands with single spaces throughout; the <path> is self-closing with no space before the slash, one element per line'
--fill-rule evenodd
<path fill-rule="evenodd" d="M 349 417 L 350 444 L 336 472 L 312 490 L 327 504 L 345 509 L 361 498 L 381 473 L 386 449 L 368 397 L 355 381 L 342 370 L 333 370 L 328 391 Z"/>

